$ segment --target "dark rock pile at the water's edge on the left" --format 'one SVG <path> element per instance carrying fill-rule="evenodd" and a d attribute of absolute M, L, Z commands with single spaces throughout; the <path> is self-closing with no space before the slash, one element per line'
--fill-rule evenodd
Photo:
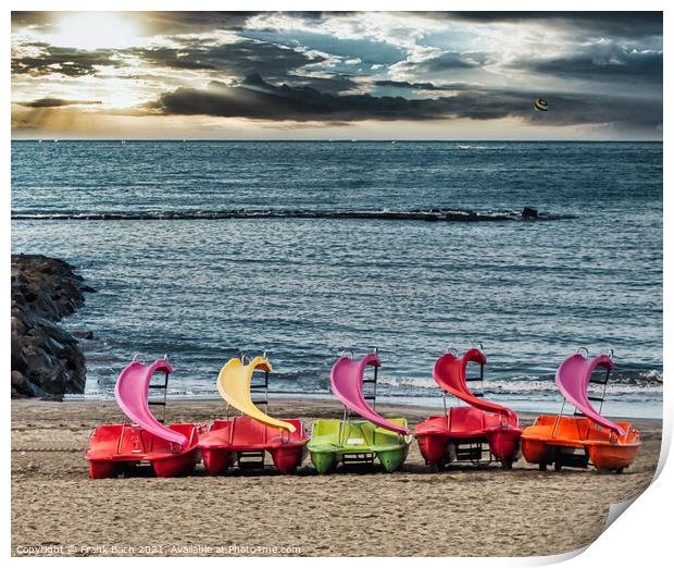
<path fill-rule="evenodd" d="M 85 292 L 96 291 L 63 260 L 12 256 L 12 398 L 84 392 L 84 355 L 57 322 L 84 305 Z"/>

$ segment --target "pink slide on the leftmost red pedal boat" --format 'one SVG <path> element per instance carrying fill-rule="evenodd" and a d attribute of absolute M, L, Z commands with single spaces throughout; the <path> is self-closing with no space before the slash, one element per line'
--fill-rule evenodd
<path fill-rule="evenodd" d="M 114 396 L 128 419 L 145 431 L 167 442 L 184 446 L 187 437 L 162 424 L 148 407 L 150 380 L 155 372 L 171 373 L 173 369 L 165 359 L 158 359 L 150 366 L 133 361 L 120 373 Z"/>

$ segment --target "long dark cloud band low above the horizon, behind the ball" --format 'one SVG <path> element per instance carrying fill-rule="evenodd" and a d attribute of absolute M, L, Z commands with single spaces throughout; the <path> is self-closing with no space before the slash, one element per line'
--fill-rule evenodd
<path fill-rule="evenodd" d="M 659 104 L 629 98 L 597 96 L 550 97 L 550 111 L 533 109 L 528 92 L 473 90 L 453 97 L 405 99 L 372 95 L 336 96 L 287 85 L 276 87 L 260 76 L 238 86 L 209 89 L 178 88 L 159 97 L 148 111 L 159 114 L 211 115 L 273 121 L 353 122 L 363 120 L 491 120 L 516 116 L 538 124 L 621 123 L 656 127 L 662 122 Z"/>

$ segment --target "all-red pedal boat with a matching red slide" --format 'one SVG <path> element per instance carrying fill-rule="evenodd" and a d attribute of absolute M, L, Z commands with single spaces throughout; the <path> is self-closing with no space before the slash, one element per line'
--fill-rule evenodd
<path fill-rule="evenodd" d="M 469 362 L 479 365 L 479 376 L 466 378 Z M 485 355 L 475 348 L 463 357 L 447 353 L 435 363 L 433 379 L 445 391 L 442 400 L 449 393 L 471 405 L 446 407 L 444 416 L 428 417 L 416 427 L 414 435 L 422 456 L 436 471 L 454 460 L 473 464 L 496 460 L 503 469 L 511 469 L 517 459 L 522 435 L 517 415 L 510 408 L 478 398 L 466 385 L 466 381 L 484 380 L 486 363 Z"/>

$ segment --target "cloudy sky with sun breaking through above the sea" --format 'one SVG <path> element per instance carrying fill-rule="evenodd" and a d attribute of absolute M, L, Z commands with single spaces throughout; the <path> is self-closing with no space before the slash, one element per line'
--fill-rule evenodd
<path fill-rule="evenodd" d="M 661 12 L 13 12 L 11 57 L 13 138 L 662 139 Z"/>

